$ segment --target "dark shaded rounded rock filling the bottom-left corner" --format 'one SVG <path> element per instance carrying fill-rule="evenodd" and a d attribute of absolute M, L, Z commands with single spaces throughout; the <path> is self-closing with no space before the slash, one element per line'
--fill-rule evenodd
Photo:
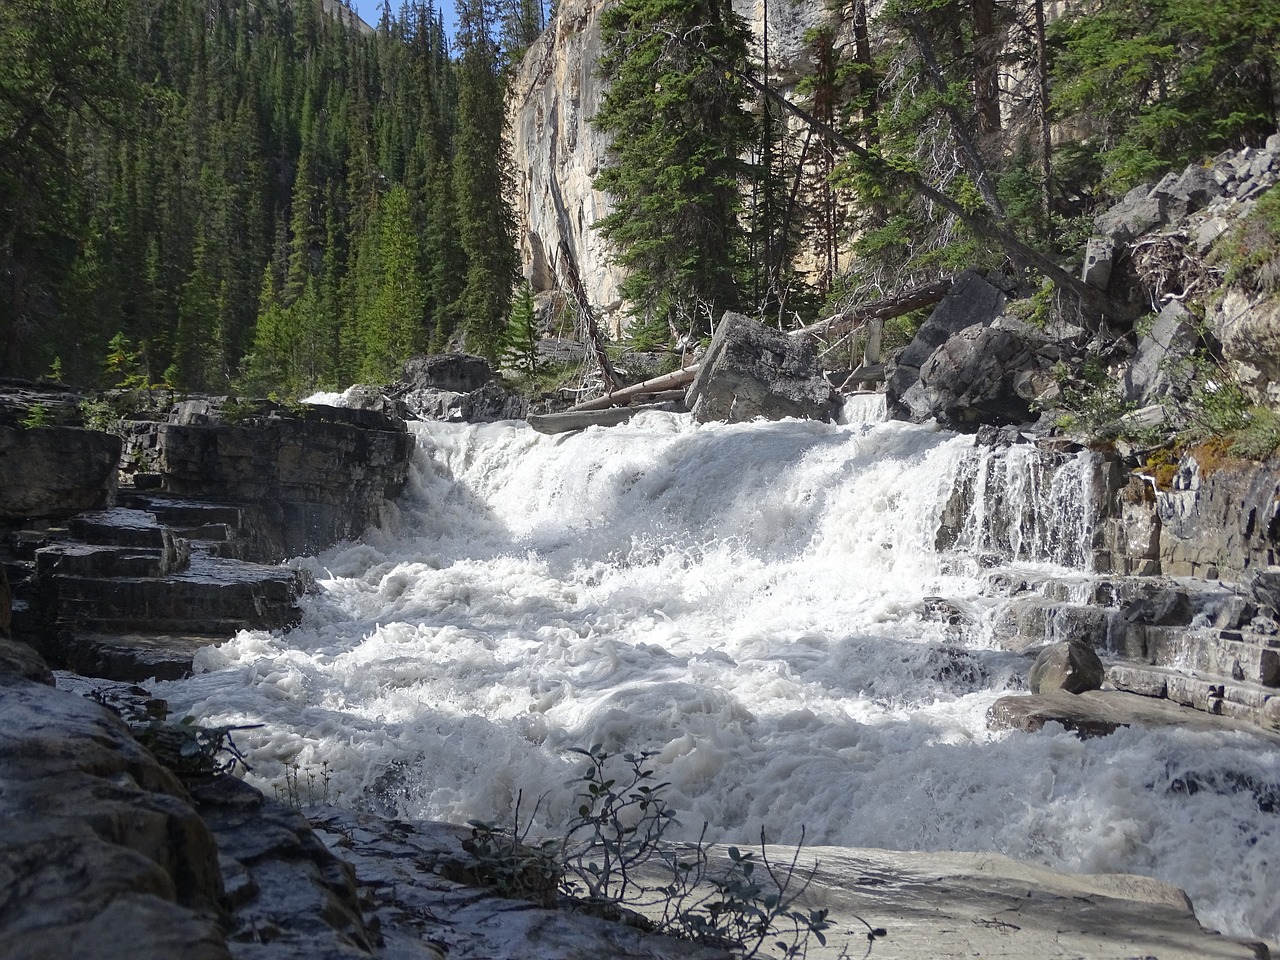
<path fill-rule="evenodd" d="M 223 960 L 212 836 L 105 707 L 0 677 L 6 956 Z"/>

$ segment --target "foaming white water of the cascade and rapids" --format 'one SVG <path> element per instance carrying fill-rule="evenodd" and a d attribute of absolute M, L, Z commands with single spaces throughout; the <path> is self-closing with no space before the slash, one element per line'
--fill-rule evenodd
<path fill-rule="evenodd" d="M 960 472 L 1011 489 L 1016 465 L 904 424 L 416 429 L 394 515 L 303 561 L 320 594 L 301 627 L 242 632 L 202 654 L 206 672 L 157 685 L 206 723 L 264 723 L 237 741 L 269 792 L 285 764 L 303 781 L 326 764 L 340 803 L 454 822 L 509 822 L 517 791 L 525 813 L 548 792 L 554 831 L 568 748 L 603 742 L 657 751 L 686 833 L 795 842 L 804 827 L 810 844 L 1144 873 L 1207 925 L 1280 937 L 1280 817 L 1249 794 L 1170 788 L 1274 783 L 1276 751 L 1233 733 L 987 731 L 1027 660 L 987 640 L 1001 600 L 978 564 L 933 544 Z M 1021 561 L 1078 548 L 1070 486 L 1042 497 L 1059 520 L 1032 518 Z M 988 552 L 983 529 L 970 516 L 961 543 Z M 925 596 L 977 625 L 927 618 Z"/>

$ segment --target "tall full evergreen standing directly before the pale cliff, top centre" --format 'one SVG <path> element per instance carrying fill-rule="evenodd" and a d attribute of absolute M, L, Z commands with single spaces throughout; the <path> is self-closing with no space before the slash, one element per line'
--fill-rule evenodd
<path fill-rule="evenodd" d="M 595 186 L 613 212 L 598 227 L 630 271 L 632 315 L 666 340 L 699 307 L 740 302 L 749 32 L 724 0 L 621 0 L 600 26 L 609 86 L 593 122 L 613 147 Z"/>

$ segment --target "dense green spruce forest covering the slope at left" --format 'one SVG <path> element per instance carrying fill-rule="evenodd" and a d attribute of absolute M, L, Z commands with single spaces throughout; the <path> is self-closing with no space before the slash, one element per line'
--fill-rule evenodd
<path fill-rule="evenodd" d="M 6 375 L 109 357 L 186 390 L 390 379 L 493 356 L 517 271 L 506 72 L 536 6 L 6 0 Z M 116 362 L 115 367 L 120 367 Z"/>

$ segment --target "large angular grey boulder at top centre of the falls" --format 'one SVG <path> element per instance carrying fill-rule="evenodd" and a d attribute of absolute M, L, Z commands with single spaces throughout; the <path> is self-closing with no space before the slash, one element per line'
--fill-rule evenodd
<path fill-rule="evenodd" d="M 823 378 L 808 339 L 732 312 L 716 328 L 685 403 L 699 422 L 829 421 L 840 412 L 840 396 Z"/>

